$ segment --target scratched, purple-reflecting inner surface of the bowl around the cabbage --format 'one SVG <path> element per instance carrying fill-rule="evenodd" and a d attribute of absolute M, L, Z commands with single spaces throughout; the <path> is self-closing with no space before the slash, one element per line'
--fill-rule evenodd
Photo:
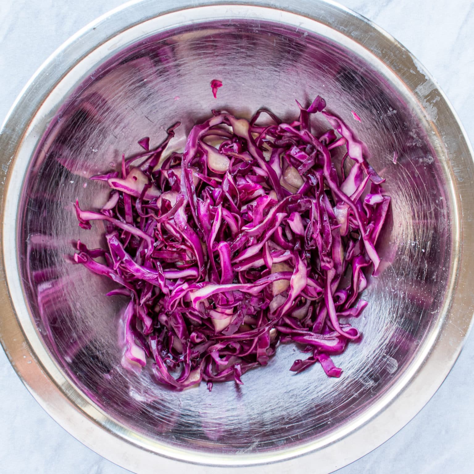
<path fill-rule="evenodd" d="M 433 145 L 429 122 L 408 92 L 324 34 L 250 19 L 140 38 L 94 68 L 42 131 L 18 208 L 24 291 L 59 367 L 137 436 L 214 453 L 307 443 L 367 410 L 400 379 L 449 297 L 452 200 L 442 146 Z M 217 100 L 211 79 L 224 84 Z M 319 366 L 293 374 L 293 360 L 304 355 L 292 345 L 278 347 L 268 366 L 244 376 L 244 385 L 216 383 L 211 393 L 205 384 L 173 392 L 147 369 L 123 369 L 118 338 L 125 299 L 106 297 L 113 284 L 67 258 L 78 238 L 100 246 L 104 228 L 80 229 L 71 203 L 99 208 L 108 186 L 89 178 L 118 170 L 122 153 L 138 153 L 143 137 L 158 144 L 178 120 L 171 148 L 181 151 L 192 125 L 211 109 L 250 118 L 264 107 L 296 118 L 294 100 L 308 103 L 318 94 L 365 141 L 392 196 L 377 248 L 383 271 L 367 275 L 369 305 L 355 322 L 363 339 L 334 357 L 343 375 L 328 378 Z M 327 127 L 321 118 L 314 125 Z"/>

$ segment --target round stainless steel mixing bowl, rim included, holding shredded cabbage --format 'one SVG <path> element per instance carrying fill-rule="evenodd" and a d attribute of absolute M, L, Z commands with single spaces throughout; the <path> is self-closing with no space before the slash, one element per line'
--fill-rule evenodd
<path fill-rule="evenodd" d="M 392 436 L 428 401 L 461 350 L 474 309 L 473 157 L 443 93 L 392 37 L 333 3 L 130 4 L 74 36 L 18 98 L 0 135 L 3 314 L 0 338 L 36 400 L 102 456 L 138 473 L 310 467 L 328 473 Z M 224 82 L 218 100 L 209 82 Z M 72 265 L 70 203 L 98 207 L 88 178 L 137 140 L 173 141 L 210 109 L 283 117 L 321 94 L 351 123 L 387 179 L 383 272 L 356 322 L 364 338 L 335 357 L 344 374 L 288 371 L 281 346 L 245 385 L 171 392 L 121 368 L 109 282 Z M 352 119 L 355 110 L 362 123 Z M 399 155 L 393 164 L 393 153 Z M 279 461 L 278 466 L 271 463 Z"/>

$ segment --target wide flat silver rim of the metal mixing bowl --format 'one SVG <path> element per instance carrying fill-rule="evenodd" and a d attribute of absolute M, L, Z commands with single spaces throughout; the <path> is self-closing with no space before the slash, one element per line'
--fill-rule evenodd
<path fill-rule="evenodd" d="M 34 127 L 35 118 L 40 109 L 47 107 L 51 92 L 64 77 L 83 61 L 91 62 L 93 51 L 146 21 L 159 24 L 166 30 L 173 25 L 229 17 L 271 19 L 319 33 L 321 28 L 325 31 L 330 29 L 374 61 L 385 64 L 388 72 L 393 73 L 410 91 L 425 118 L 447 144 L 451 195 L 456 196 L 453 203 L 455 252 L 452 268 L 457 270 L 457 275 L 451 282 L 456 291 L 446 305 L 446 314 L 439 319 L 436 330 L 431 331 L 420 345 L 416 360 L 388 391 L 391 396 L 381 397 L 382 401 L 377 401 L 372 409 L 358 417 L 353 428 L 346 429 L 342 435 L 337 430 L 336 434 L 323 437 L 324 443 L 311 442 L 301 447 L 254 456 L 251 453 L 213 456 L 207 452 L 194 453 L 159 443 L 152 450 L 138 437 L 134 438 L 131 433 L 128 437 L 123 436 L 118 427 L 112 426 L 105 414 L 78 392 L 48 360 L 47 352 L 38 346 L 39 338 L 34 341 L 33 331 L 25 326 L 25 321 L 29 319 L 26 305 L 21 305 L 22 294 L 18 292 L 18 282 L 12 277 L 16 253 L 12 254 L 11 250 L 16 248 L 16 236 L 9 235 L 14 233 L 7 231 L 11 229 L 11 222 L 16 221 L 14 204 L 18 196 L 15 192 L 19 192 L 18 182 L 22 181 L 20 172 L 26 169 L 28 160 L 28 156 L 22 156 L 27 149 L 25 144 L 36 144 L 35 139 L 39 137 Z M 402 60 L 391 63 L 390 58 L 394 54 Z M 92 62 L 92 66 L 95 67 L 95 63 Z M 438 102 L 438 113 L 433 115 L 428 96 L 435 90 L 441 101 Z M 259 465 L 262 473 L 270 473 L 273 472 L 271 463 L 274 462 L 279 462 L 284 472 L 311 466 L 313 472 L 325 474 L 343 467 L 378 447 L 423 408 L 454 365 L 473 324 L 474 293 L 470 290 L 469 268 L 474 264 L 474 255 L 463 252 L 463 248 L 471 246 L 469 239 L 472 239 L 470 236 L 474 231 L 474 197 L 465 182 L 466 178 L 469 182 L 474 180 L 474 158 L 465 130 L 444 93 L 416 58 L 374 23 L 332 1 L 303 0 L 297 6 L 288 7 L 282 0 L 272 1 L 271 4 L 264 0 L 240 0 L 235 3 L 225 0 L 192 3 L 190 0 L 177 0 L 171 9 L 154 0 L 126 3 L 72 36 L 26 84 L 0 131 L 0 163 L 1 344 L 19 378 L 53 419 L 87 447 L 134 472 L 149 472 L 150 463 L 157 459 L 160 459 L 164 470 L 170 471 L 185 463 L 193 463 L 197 473 L 217 473 L 221 471 L 221 466 L 233 466 L 241 472 L 251 473 L 255 465 Z M 316 458 L 318 462 L 314 463 Z"/>

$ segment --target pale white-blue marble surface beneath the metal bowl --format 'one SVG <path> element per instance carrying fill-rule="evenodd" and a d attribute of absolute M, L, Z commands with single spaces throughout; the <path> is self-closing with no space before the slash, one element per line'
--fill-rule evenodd
<path fill-rule="evenodd" d="M 36 68 L 121 0 L 0 0 L 0 120 Z M 342 0 L 390 32 L 438 80 L 474 142 L 472 0 Z M 338 474 L 474 472 L 474 337 L 428 405 L 393 438 Z M 275 467 L 275 472 L 278 468 Z M 0 472 L 125 474 L 58 426 L 0 350 Z M 153 469 L 150 469 L 153 472 Z M 166 474 L 166 473 L 163 473 Z"/>

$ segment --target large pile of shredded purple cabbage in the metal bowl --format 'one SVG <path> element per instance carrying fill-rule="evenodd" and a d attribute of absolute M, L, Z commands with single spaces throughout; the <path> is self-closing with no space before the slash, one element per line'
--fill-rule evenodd
<path fill-rule="evenodd" d="M 298 102 L 297 102 L 298 103 Z M 357 341 L 346 321 L 367 302 L 364 269 L 377 272 L 377 238 L 389 208 L 365 145 L 319 96 L 299 118 L 259 110 L 247 121 L 213 112 L 194 126 L 183 153 L 162 144 L 122 158 L 99 211 L 76 202 L 79 225 L 106 227 L 107 249 L 77 242 L 76 263 L 120 285 L 122 363 L 149 360 L 156 380 L 177 389 L 235 380 L 266 365 L 277 344 L 294 342 L 339 377 L 330 356 Z M 270 122 L 258 125 L 262 113 Z M 330 128 L 313 133 L 310 114 Z M 335 166 L 337 151 L 343 159 Z M 339 154 L 341 155 L 341 154 Z M 345 173 L 346 157 L 352 167 Z"/>

